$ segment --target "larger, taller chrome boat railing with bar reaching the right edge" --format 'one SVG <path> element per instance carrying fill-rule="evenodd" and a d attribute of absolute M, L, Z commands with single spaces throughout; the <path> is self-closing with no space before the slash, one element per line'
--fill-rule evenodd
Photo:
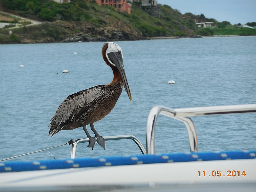
<path fill-rule="evenodd" d="M 147 154 L 155 154 L 155 128 L 156 119 L 159 114 L 171 117 L 183 122 L 188 131 L 190 151 L 198 151 L 198 142 L 196 136 L 195 125 L 190 117 L 192 116 L 208 116 L 233 113 L 252 113 L 256 112 L 256 104 L 247 105 L 226 105 L 214 107 L 196 107 L 196 108 L 177 108 L 172 109 L 164 106 L 153 107 L 148 115 L 146 145 Z"/>

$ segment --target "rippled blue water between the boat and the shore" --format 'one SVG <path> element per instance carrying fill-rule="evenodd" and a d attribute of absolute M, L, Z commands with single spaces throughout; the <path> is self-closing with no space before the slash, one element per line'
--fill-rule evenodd
<path fill-rule="evenodd" d="M 103 43 L 0 45 L 0 159 L 85 137 L 82 128 L 47 137 L 47 126 L 68 95 L 111 82 Z M 156 105 L 256 103 L 256 36 L 116 43 L 123 50 L 133 101 L 123 90 L 110 114 L 94 123 L 102 136 L 132 134 L 146 148 L 147 117 Z M 192 119 L 199 151 L 256 149 L 256 113 Z M 168 117 L 157 119 L 155 140 L 156 153 L 189 151 L 184 124 Z M 76 157 L 140 154 L 132 140 L 106 141 L 105 151 L 98 144 L 93 150 L 86 146 L 78 145 Z M 13 160 L 69 158 L 70 151 L 66 145 Z"/>

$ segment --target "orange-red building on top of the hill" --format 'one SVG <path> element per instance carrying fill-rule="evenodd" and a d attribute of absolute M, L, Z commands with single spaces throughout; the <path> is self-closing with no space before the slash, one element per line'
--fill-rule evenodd
<path fill-rule="evenodd" d="M 127 3 L 127 0 L 96 0 L 98 5 L 112 6 L 116 11 L 124 11 L 131 14 L 132 4 Z"/>

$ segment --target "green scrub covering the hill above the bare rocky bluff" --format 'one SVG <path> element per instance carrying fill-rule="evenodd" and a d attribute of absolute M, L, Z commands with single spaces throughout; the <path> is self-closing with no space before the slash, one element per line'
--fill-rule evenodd
<path fill-rule="evenodd" d="M 141 3 L 132 4 L 131 15 L 116 12 L 112 7 L 100 7 L 95 1 L 73 0 L 71 3 L 58 4 L 41 0 L 3 0 L 2 5 L 23 17 L 37 16 L 45 21 L 88 22 L 97 26 L 109 26 L 113 22 L 130 25 L 143 36 L 190 36 L 195 34 L 193 20 L 182 18 L 182 14 L 170 6 L 161 6 L 161 17 L 150 16 L 141 10 Z M 129 24 L 128 24 L 129 23 Z M 181 32 L 182 31 L 182 32 Z"/>

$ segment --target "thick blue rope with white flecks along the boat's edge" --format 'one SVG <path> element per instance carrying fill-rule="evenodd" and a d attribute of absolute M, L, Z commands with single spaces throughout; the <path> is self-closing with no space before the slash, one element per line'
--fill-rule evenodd
<path fill-rule="evenodd" d="M 0 172 L 254 158 L 256 158 L 256 150 L 85 157 L 64 160 L 3 161 L 0 162 Z"/>

